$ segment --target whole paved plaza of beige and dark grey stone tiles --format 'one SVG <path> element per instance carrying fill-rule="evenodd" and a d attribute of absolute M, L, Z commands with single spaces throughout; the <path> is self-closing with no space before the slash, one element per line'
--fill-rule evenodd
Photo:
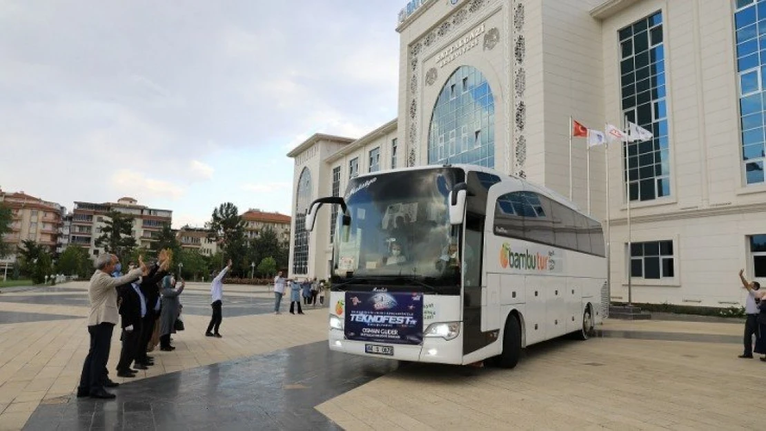
<path fill-rule="evenodd" d="M 206 338 L 208 286 L 187 286 L 186 330 L 148 371 L 116 377 L 115 332 L 120 386 L 102 401 L 74 397 L 87 283 L 4 289 L 0 429 L 733 430 L 766 419 L 766 363 L 737 358 L 736 321 L 607 321 L 597 338 L 532 346 L 502 370 L 330 352 L 326 309 L 273 315 L 271 295 L 224 286 L 224 338 Z"/>

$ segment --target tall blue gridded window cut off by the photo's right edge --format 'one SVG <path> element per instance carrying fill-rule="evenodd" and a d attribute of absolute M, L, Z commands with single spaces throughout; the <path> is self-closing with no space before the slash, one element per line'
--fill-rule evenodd
<path fill-rule="evenodd" d="M 766 2 L 735 0 L 734 14 L 741 163 L 745 184 L 764 182 L 764 73 L 766 73 Z M 761 51 L 759 51 L 761 50 Z"/>

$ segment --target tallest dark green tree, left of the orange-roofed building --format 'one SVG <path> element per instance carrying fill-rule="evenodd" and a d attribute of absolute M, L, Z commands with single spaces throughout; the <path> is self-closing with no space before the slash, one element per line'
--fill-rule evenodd
<path fill-rule="evenodd" d="M 244 240 L 244 221 L 237 205 L 227 202 L 213 210 L 208 238 L 219 241 L 224 258 L 234 261 L 234 272 L 247 272 L 247 242 Z"/>

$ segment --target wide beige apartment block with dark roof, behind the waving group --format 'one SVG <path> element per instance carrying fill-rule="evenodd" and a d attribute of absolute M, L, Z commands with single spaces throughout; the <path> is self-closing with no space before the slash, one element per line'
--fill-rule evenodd
<path fill-rule="evenodd" d="M 120 198 L 116 202 L 97 204 L 75 202 L 72 211 L 69 243 L 89 250 L 90 256 L 103 253 L 103 247 L 96 246 L 102 234 L 110 211 L 117 211 L 133 217 L 133 237 L 139 247 L 149 248 L 156 241 L 162 227 L 172 223 L 170 210 L 139 205 L 134 198 Z"/>

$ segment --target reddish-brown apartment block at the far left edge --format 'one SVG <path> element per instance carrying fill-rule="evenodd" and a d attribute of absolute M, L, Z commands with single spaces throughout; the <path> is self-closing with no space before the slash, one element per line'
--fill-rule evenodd
<path fill-rule="evenodd" d="M 55 202 L 35 198 L 24 191 L 16 193 L 0 189 L 0 204 L 11 208 L 11 232 L 6 233 L 2 240 L 14 248 L 21 245 L 23 240 L 33 240 L 36 243 L 50 247 L 51 252 L 58 251 L 59 234 L 63 227 L 63 217 L 66 208 Z M 2 263 L 15 263 L 16 253 L 0 260 Z"/>

